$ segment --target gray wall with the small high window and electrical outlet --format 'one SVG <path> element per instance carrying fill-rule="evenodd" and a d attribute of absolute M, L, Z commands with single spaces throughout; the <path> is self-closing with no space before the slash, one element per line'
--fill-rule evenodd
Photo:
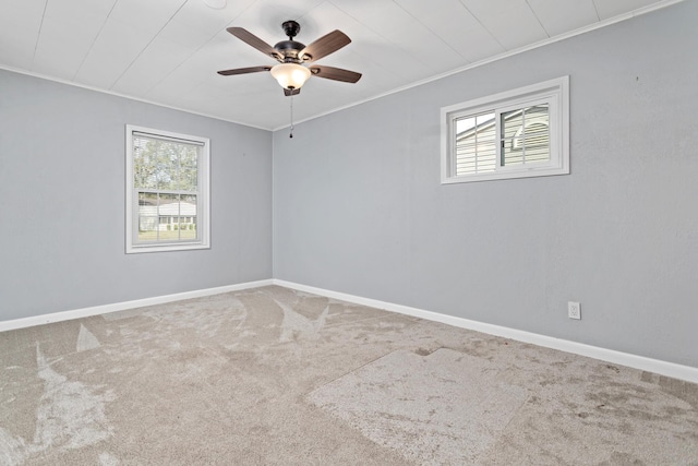
<path fill-rule="evenodd" d="M 274 276 L 698 367 L 697 17 L 678 3 L 275 132 Z M 571 175 L 440 184 L 442 106 L 566 74 Z"/>

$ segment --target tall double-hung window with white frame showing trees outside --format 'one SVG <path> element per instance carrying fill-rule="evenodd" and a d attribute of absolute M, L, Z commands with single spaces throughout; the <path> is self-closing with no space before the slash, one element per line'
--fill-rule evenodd
<path fill-rule="evenodd" d="M 127 124 L 127 253 L 209 247 L 208 145 Z"/>

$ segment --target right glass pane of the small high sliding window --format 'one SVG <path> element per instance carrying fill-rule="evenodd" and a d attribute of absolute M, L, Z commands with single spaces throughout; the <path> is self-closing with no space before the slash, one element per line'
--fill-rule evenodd
<path fill-rule="evenodd" d="M 503 112 L 502 165 L 550 160 L 550 111 L 547 104 Z"/>

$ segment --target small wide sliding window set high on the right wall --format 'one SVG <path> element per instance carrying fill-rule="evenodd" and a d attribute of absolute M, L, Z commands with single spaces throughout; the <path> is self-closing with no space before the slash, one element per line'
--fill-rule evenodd
<path fill-rule="evenodd" d="M 569 174 L 569 77 L 442 108 L 442 183 Z"/>

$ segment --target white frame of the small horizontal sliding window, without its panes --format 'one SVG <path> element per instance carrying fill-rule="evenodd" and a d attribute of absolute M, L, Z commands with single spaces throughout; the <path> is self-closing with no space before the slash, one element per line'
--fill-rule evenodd
<path fill-rule="evenodd" d="M 549 105 L 550 160 L 502 165 L 500 115 L 537 104 Z M 496 122 L 496 167 L 494 171 L 456 176 L 456 120 L 493 112 Z M 569 174 L 569 76 L 481 97 L 441 109 L 442 184 Z"/>

